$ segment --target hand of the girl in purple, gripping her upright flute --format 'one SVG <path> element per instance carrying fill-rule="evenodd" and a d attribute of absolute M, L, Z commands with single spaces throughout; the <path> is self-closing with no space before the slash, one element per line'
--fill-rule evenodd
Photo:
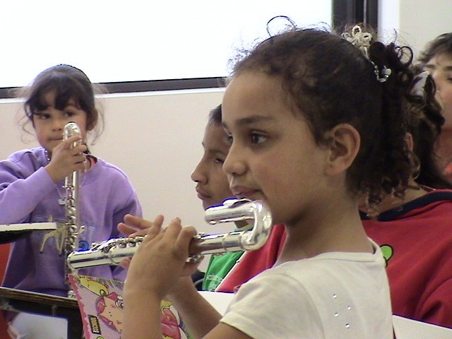
<path fill-rule="evenodd" d="M 86 155 L 83 152 L 87 150 L 86 145 L 72 147 L 73 143 L 80 140 L 81 136 L 71 136 L 71 138 L 61 141 L 52 150 L 52 159 L 45 169 L 53 182 L 57 183 L 61 181 L 74 171 L 85 170 Z"/>

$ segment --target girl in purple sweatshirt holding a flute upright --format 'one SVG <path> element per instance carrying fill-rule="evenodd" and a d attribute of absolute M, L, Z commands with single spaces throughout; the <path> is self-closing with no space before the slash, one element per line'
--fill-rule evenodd
<path fill-rule="evenodd" d="M 118 167 L 91 155 L 85 144 L 100 114 L 93 85 L 80 69 L 69 65 L 42 71 L 26 88 L 25 114 L 40 147 L 19 150 L 0 162 L 0 224 L 65 222 L 65 177 L 81 170 L 78 235 L 79 249 L 93 242 L 124 237 L 117 224 L 124 215 L 142 214 L 136 191 Z M 81 136 L 63 140 L 64 126 L 76 122 Z M 81 145 L 71 148 L 78 140 Z M 64 234 L 32 232 L 13 242 L 3 285 L 67 297 Z M 97 266 L 80 274 L 124 280 L 124 269 Z M 31 321 L 30 317 L 37 318 Z M 52 322 L 52 324 L 49 323 Z M 10 323 L 18 338 L 66 338 L 66 325 L 57 318 L 18 314 Z"/>

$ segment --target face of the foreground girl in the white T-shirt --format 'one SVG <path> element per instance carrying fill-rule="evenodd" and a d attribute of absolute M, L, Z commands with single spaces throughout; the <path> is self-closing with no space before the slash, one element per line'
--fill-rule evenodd
<path fill-rule="evenodd" d="M 316 213 L 315 201 L 328 191 L 328 148 L 316 145 L 302 114 L 283 102 L 278 78 L 240 73 L 227 87 L 222 114 L 232 137 L 223 169 L 234 195 L 266 201 L 275 223 Z"/>

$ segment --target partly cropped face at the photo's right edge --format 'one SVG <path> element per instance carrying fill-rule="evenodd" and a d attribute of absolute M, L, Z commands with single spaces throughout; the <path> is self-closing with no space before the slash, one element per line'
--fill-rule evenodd
<path fill-rule="evenodd" d="M 441 113 L 446 119 L 443 129 L 452 129 L 452 54 L 439 54 L 427 62 L 425 70 L 432 74 L 436 98 L 441 102 Z"/>

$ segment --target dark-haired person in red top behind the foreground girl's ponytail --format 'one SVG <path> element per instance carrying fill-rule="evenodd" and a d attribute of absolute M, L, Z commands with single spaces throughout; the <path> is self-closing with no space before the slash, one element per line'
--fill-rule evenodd
<path fill-rule="evenodd" d="M 362 213 L 362 220 L 385 256 L 393 313 L 452 328 L 452 185 L 434 153 L 444 117 L 432 100 L 432 78 L 423 76 L 426 103 L 409 121 L 418 176 L 411 179 L 404 200 L 389 196 L 376 211 L 362 206 L 371 212 Z"/>

